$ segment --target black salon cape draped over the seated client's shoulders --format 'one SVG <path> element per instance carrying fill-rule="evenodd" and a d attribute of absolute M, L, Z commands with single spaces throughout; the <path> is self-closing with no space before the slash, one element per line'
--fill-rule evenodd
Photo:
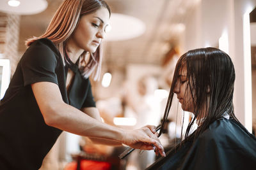
<path fill-rule="evenodd" d="M 147 169 L 256 169 L 256 138 L 232 119 L 213 122 L 193 143 L 171 150 Z"/>

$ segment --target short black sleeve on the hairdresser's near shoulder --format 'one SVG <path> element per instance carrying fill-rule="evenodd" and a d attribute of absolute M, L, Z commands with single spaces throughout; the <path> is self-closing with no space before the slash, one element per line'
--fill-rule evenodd
<path fill-rule="evenodd" d="M 20 60 L 24 85 L 40 81 L 49 81 L 58 85 L 58 78 L 55 73 L 57 59 L 54 52 L 47 45 L 38 41 L 34 43 L 29 46 Z"/>

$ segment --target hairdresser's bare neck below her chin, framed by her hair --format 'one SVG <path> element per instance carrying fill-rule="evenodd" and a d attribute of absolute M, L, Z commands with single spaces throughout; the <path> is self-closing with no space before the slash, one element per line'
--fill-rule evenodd
<path fill-rule="evenodd" d="M 69 39 L 67 41 L 67 54 L 72 62 L 76 63 L 77 59 L 83 52 L 84 50 L 82 48 L 79 48 L 76 42 L 74 42 L 72 39 Z"/>

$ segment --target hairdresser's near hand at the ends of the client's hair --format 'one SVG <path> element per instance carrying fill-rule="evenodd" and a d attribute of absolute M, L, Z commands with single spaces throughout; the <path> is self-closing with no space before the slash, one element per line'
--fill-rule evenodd
<path fill-rule="evenodd" d="M 165 157 L 164 148 L 154 134 L 148 127 L 142 127 L 133 131 L 125 131 L 123 143 L 131 148 L 141 150 L 156 149 L 163 157 Z"/>

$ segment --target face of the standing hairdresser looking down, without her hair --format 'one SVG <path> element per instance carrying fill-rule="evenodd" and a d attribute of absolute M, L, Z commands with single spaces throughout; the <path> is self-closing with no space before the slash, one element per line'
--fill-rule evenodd
<path fill-rule="evenodd" d="M 77 48 L 86 52 L 95 52 L 106 34 L 109 22 L 109 11 L 100 8 L 94 13 L 81 17 L 71 39 Z"/>

